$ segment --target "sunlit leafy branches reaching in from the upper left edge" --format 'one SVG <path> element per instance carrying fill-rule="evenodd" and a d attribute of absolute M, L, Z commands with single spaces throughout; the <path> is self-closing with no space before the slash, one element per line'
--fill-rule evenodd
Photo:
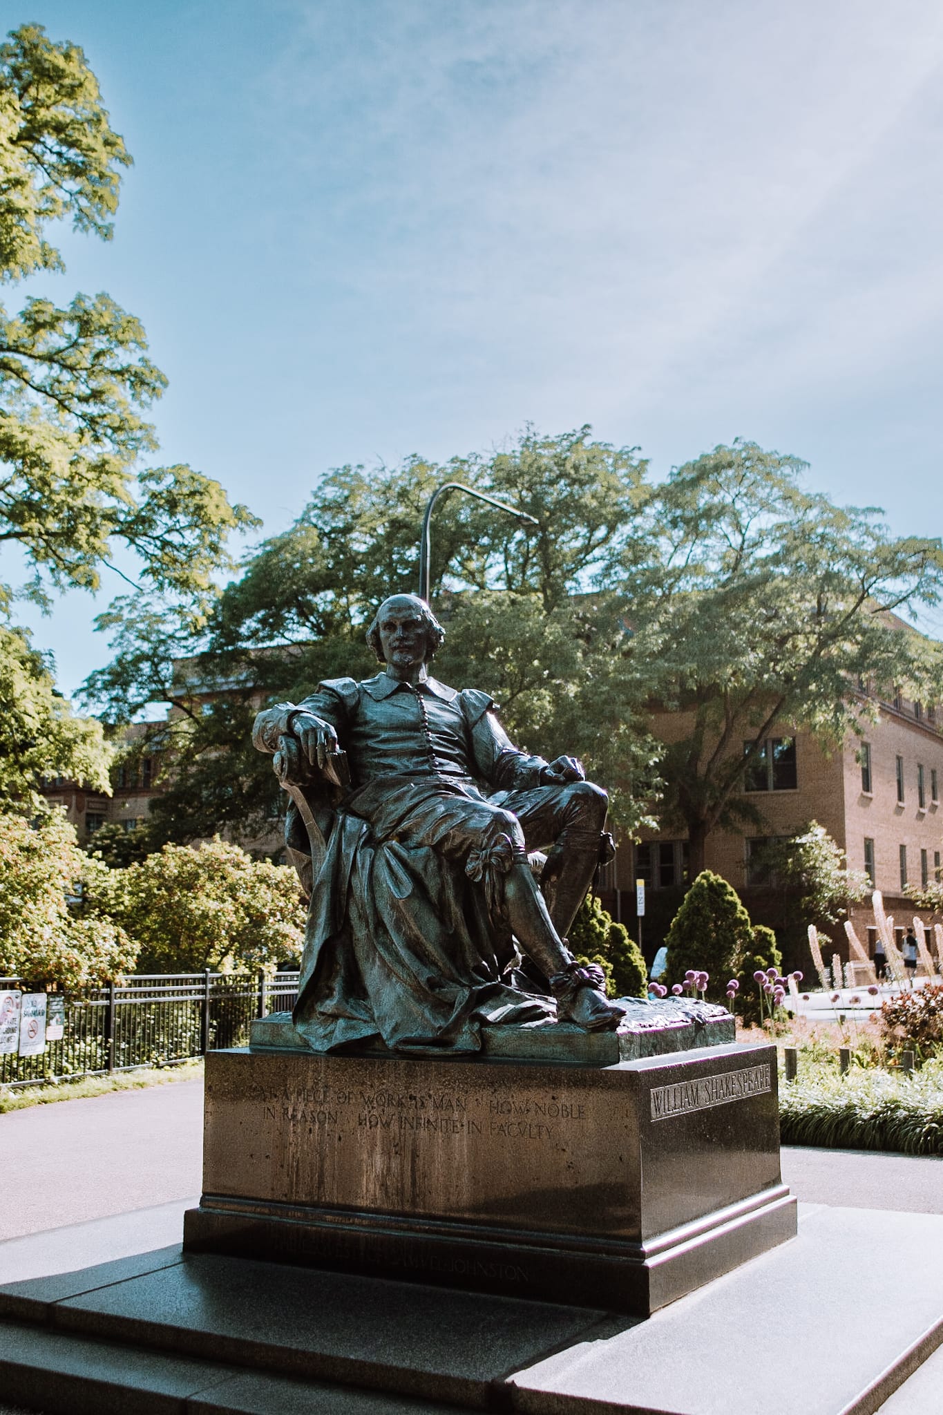
<path fill-rule="evenodd" d="M 82 50 L 38 24 L 14 30 L 0 45 L 0 282 L 64 269 L 48 239 L 55 222 L 110 239 L 130 161 Z M 134 553 L 146 586 L 187 596 L 199 617 L 228 536 L 253 518 L 191 467 L 143 463 L 157 450 L 144 413 L 165 383 L 140 321 L 107 294 L 76 294 L 65 308 L 41 294 L 13 313 L 0 304 L 0 548 L 18 546 L 30 567 L 27 584 L 0 583 L 7 618 L 17 596 L 48 607 L 54 590 L 96 590 L 116 546 Z M 0 638 L 10 659 L 0 681 L 31 674 L 42 696 L 48 665 L 23 644 L 21 634 Z M 6 696 L 0 706 L 16 712 Z M 48 737 L 47 770 L 100 787 L 100 737 L 93 750 L 93 729 L 74 730 L 71 758 L 66 737 Z M 45 740 L 14 744 L 7 791 L 13 764 L 35 761 Z"/>

